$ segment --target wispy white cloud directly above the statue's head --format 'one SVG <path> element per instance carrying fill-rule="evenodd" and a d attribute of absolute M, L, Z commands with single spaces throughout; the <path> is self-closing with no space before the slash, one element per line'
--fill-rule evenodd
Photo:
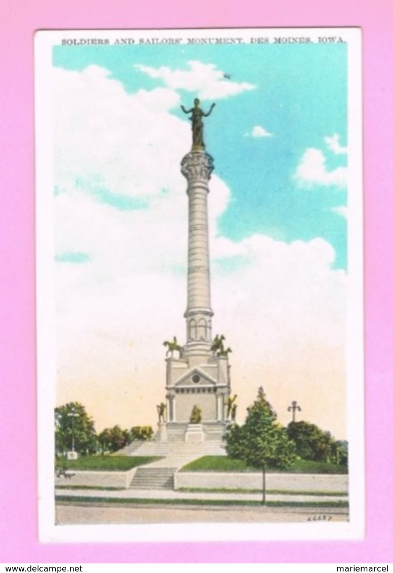
<path fill-rule="evenodd" d="M 171 69 L 168 66 L 151 68 L 135 64 L 135 68 L 148 76 L 163 80 L 168 88 L 184 89 L 192 92 L 202 100 L 218 100 L 256 88 L 246 82 L 234 82 L 226 79 L 224 72 L 214 64 L 203 64 L 197 60 L 188 62 L 189 69 Z"/>

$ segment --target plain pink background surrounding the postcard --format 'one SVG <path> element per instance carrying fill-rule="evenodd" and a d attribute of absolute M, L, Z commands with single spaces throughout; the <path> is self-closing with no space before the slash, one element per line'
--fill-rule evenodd
<path fill-rule="evenodd" d="M 5 563 L 393 561 L 391 0 L 1 2 L 1 548 Z M 38 29 L 361 26 L 364 60 L 367 532 L 363 541 L 40 544 L 37 540 L 33 33 Z M 359 380 L 361 383 L 361 380 Z"/>

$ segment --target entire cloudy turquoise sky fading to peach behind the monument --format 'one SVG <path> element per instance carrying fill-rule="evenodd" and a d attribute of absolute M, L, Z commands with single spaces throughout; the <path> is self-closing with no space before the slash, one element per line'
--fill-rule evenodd
<path fill-rule="evenodd" d="M 185 332 L 180 104 L 199 97 L 206 111 L 216 103 L 211 303 L 239 419 L 263 384 L 282 423 L 296 399 L 344 437 L 347 45 L 54 46 L 52 57 L 58 402 L 84 403 L 99 427 L 155 423 L 162 343 Z"/>

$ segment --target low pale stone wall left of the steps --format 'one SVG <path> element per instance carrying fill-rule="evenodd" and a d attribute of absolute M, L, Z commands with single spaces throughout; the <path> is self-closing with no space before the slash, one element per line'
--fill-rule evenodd
<path fill-rule="evenodd" d="M 67 470 L 70 477 L 56 477 L 57 485 L 85 485 L 92 488 L 129 488 L 132 478 L 137 468 L 132 468 L 127 472 L 77 472 Z"/>

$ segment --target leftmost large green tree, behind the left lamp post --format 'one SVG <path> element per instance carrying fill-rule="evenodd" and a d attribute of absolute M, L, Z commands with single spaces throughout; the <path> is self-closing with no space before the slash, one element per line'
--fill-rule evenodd
<path fill-rule="evenodd" d="M 69 402 L 54 409 L 56 455 L 74 449 L 78 454 L 97 450 L 93 418 L 79 402 Z"/>

